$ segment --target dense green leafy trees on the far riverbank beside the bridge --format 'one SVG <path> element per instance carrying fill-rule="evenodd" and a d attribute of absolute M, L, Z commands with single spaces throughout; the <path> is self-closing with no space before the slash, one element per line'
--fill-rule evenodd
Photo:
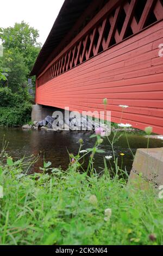
<path fill-rule="evenodd" d="M 4 47 L 0 58 L 0 125 L 17 126 L 30 120 L 28 78 L 41 47 L 38 37 L 38 31 L 24 21 L 0 29 Z"/>

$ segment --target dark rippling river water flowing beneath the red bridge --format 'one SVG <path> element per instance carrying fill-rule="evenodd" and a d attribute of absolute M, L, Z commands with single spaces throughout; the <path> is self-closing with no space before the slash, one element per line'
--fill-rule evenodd
<path fill-rule="evenodd" d="M 39 167 L 43 165 L 43 158 L 45 161 L 51 161 L 53 167 L 61 167 L 66 169 L 70 162 L 67 150 L 69 153 L 77 154 L 79 149 L 79 139 L 84 141 L 83 149 L 92 148 L 93 139 L 90 139 L 90 133 L 83 132 L 53 132 L 53 131 L 22 131 L 21 128 L 3 128 L 0 127 L 0 143 L 2 145 L 3 135 L 9 142 L 8 153 L 14 159 L 20 158 L 24 155 L 30 156 L 40 155 L 40 159 L 34 166 L 34 171 L 39 172 Z M 110 136 L 110 139 L 112 135 Z M 139 134 L 129 133 L 129 143 L 133 152 L 136 152 L 137 148 L 146 148 L 147 139 Z M 150 148 L 163 147 L 163 141 L 158 139 L 151 139 Z M 101 145 L 101 149 L 105 150 L 105 154 L 98 154 L 95 160 L 95 168 L 97 172 L 104 167 L 103 157 L 105 155 L 112 155 L 111 147 L 104 139 L 104 143 Z M 119 163 L 121 165 L 120 153 L 124 153 L 123 168 L 127 166 L 127 170 L 131 169 L 133 159 L 128 149 L 126 136 L 122 133 L 121 138 L 115 144 L 115 154 L 118 156 Z M 85 161 L 86 167 L 86 161 Z"/>

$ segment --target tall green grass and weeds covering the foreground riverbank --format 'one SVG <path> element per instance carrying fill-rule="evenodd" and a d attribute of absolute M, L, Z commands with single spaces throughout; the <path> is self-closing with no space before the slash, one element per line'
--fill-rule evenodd
<path fill-rule="evenodd" d="M 22 175 L 29 164 L 1 154 L 1 245 L 162 245 L 163 204 L 154 189 L 111 179 L 108 169 L 87 176 L 74 164 L 48 174 L 45 163 L 42 174 Z"/>

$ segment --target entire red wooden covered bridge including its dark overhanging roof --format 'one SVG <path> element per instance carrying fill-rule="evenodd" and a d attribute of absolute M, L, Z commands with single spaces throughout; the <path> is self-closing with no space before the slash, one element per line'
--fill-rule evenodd
<path fill-rule="evenodd" d="M 163 134 L 161 44 L 162 0 L 65 0 L 31 72 L 35 101 L 82 112 L 107 98 L 111 121 L 128 105 L 123 123 Z"/>

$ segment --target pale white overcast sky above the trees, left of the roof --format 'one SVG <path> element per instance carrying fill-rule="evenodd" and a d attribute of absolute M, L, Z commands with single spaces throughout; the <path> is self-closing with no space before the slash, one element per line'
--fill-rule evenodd
<path fill-rule="evenodd" d="M 0 27 L 13 26 L 24 20 L 39 30 L 39 42 L 45 42 L 64 0 L 1 1 Z"/>

